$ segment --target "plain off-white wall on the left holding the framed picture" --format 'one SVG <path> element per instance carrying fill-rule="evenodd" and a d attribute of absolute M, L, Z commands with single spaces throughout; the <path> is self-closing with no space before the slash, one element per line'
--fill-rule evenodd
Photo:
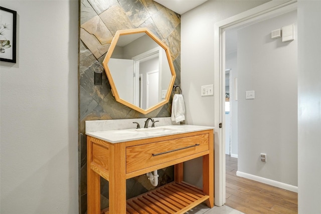
<path fill-rule="evenodd" d="M 17 63 L 1 62 L 3 214 L 78 213 L 78 1 L 17 11 Z"/>

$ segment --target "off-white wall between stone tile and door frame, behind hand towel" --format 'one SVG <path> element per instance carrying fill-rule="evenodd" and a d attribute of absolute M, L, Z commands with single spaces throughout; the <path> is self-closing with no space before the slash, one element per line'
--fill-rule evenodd
<path fill-rule="evenodd" d="M 201 86 L 214 84 L 214 24 L 264 3 L 208 1 L 181 16 L 181 86 L 186 124 L 214 126 L 214 96 L 201 97 Z M 188 182 L 201 185 L 201 164 L 200 158 L 185 164 Z"/>

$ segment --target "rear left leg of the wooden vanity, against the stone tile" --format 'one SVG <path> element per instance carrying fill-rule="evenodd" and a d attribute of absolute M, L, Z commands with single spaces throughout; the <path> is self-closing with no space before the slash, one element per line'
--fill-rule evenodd
<path fill-rule="evenodd" d="M 100 175 L 90 168 L 92 142 L 87 137 L 87 213 L 100 213 Z"/>

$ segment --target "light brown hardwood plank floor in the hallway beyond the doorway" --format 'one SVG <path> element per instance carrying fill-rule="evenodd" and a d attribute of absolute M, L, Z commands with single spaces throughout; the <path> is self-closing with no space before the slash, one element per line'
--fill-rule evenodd
<path fill-rule="evenodd" d="M 226 203 L 244 213 L 297 213 L 297 193 L 236 176 L 237 158 L 226 155 Z"/>

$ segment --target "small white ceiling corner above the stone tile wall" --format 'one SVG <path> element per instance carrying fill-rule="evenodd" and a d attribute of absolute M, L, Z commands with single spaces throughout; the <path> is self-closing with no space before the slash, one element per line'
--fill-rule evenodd
<path fill-rule="evenodd" d="M 196 8 L 197 6 L 202 5 L 208 0 L 154 0 L 154 1 L 182 15 L 185 12 L 188 12 L 193 8 Z"/>

